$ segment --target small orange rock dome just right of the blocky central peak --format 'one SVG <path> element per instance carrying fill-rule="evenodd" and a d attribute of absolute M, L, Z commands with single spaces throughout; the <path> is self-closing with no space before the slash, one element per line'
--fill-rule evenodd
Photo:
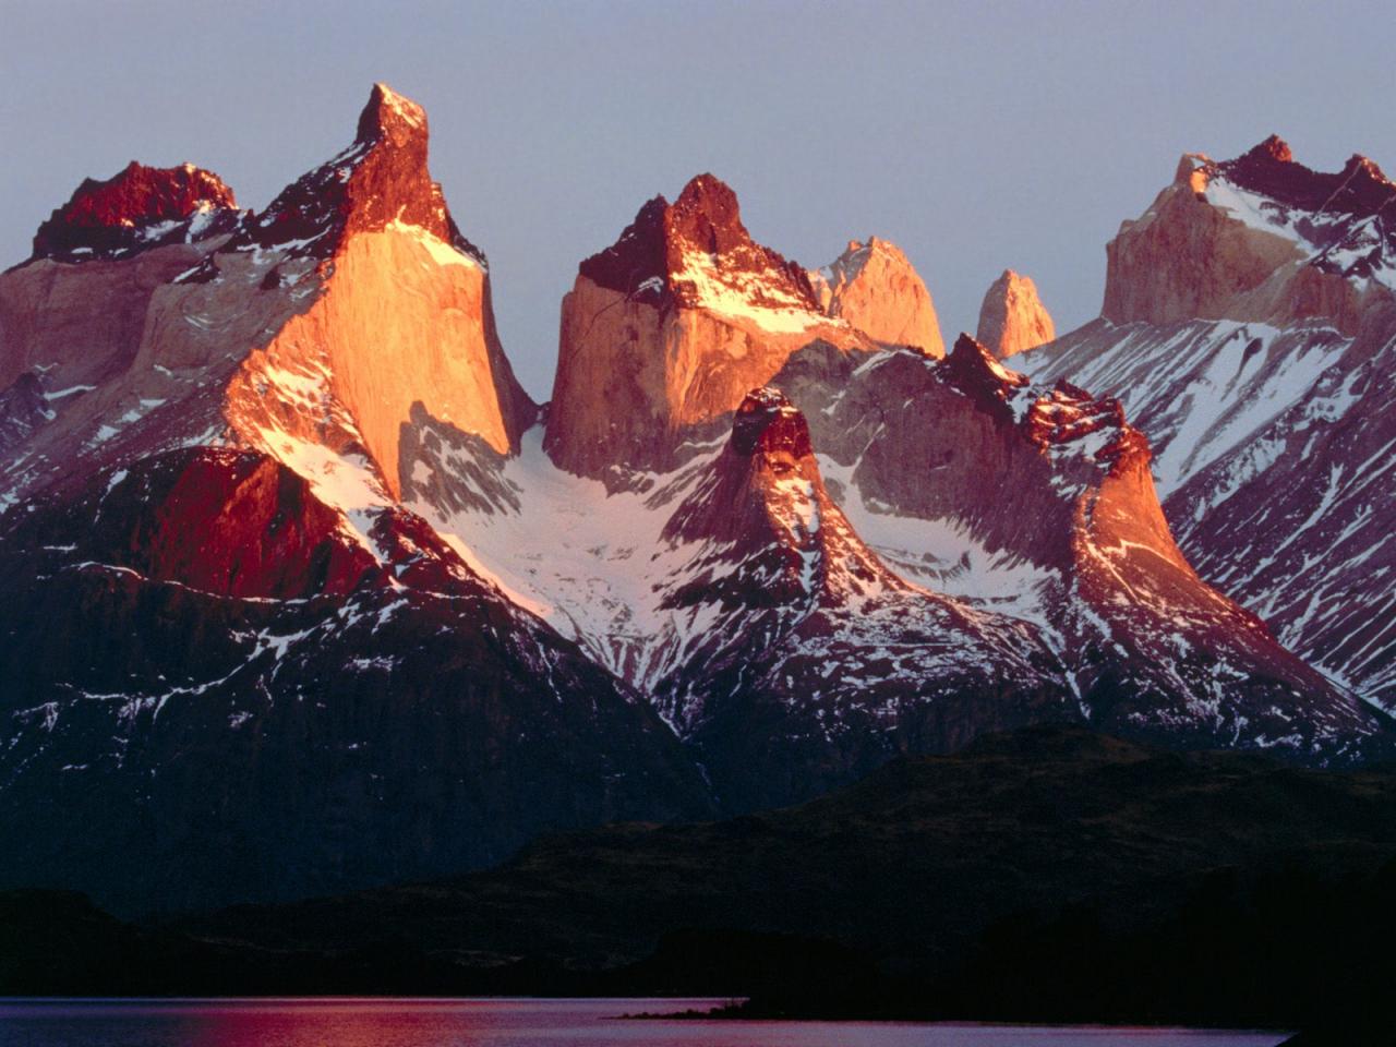
<path fill-rule="evenodd" d="M 896 244 L 875 236 L 866 244 L 852 240 L 810 281 L 831 317 L 846 320 L 872 341 L 945 355 L 931 293 Z"/>

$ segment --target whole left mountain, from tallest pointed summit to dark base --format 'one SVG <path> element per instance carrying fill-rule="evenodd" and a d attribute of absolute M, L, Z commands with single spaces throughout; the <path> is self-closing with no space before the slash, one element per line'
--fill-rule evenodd
<path fill-rule="evenodd" d="M 261 214 L 195 236 L 165 187 L 211 176 L 130 169 L 0 276 L 0 882 L 295 898 L 711 810 L 634 690 L 395 498 L 423 427 L 503 458 L 535 410 L 426 134 L 378 85 Z"/>

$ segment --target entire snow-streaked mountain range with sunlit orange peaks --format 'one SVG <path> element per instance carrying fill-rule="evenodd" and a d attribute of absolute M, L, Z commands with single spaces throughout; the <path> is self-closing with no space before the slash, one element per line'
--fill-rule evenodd
<path fill-rule="evenodd" d="M 380 84 L 265 209 L 133 162 L 0 275 L 0 885 L 286 900 L 1037 723 L 1396 751 L 1371 161 L 1185 156 L 1100 320 L 1005 271 L 949 350 L 893 244 L 699 174 L 537 405 L 427 148 Z"/>

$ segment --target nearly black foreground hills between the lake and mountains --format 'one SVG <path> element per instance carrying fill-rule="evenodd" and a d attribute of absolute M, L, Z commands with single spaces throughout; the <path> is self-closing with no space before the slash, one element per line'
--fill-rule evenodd
<path fill-rule="evenodd" d="M 684 993 L 748 1013 L 1315 1026 L 1396 973 L 1396 773 L 1068 727 L 454 879 L 123 924 L 0 899 L 7 993 Z"/>

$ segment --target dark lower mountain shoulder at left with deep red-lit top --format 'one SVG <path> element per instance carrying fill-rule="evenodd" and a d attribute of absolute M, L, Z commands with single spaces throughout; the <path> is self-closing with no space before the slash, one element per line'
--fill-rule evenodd
<path fill-rule="evenodd" d="M 649 708 L 420 519 L 380 518 L 378 567 L 322 533 L 328 510 L 297 482 L 179 452 L 7 518 L 0 881 L 202 907 L 709 810 Z M 186 535 L 152 533 L 180 514 Z M 219 536 L 232 558 L 183 558 Z"/>

